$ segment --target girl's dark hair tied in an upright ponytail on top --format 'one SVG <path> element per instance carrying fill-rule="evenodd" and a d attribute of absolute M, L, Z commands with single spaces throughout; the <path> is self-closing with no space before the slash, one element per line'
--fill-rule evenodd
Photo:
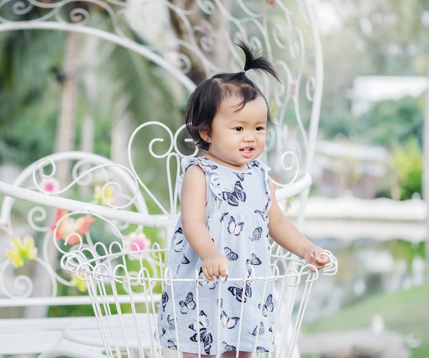
<path fill-rule="evenodd" d="M 262 97 L 267 102 L 258 86 L 246 76 L 246 71 L 253 69 L 258 73 L 267 72 L 280 81 L 273 66 L 264 55 L 252 51 L 244 42 L 237 42 L 236 45 L 245 53 L 243 71 L 238 73 L 219 73 L 202 81 L 191 94 L 186 107 L 184 114 L 186 128 L 195 144 L 206 150 L 208 150 L 208 143 L 199 136 L 199 132 L 207 131 L 210 135 L 213 118 L 215 118 L 225 98 L 237 97 L 242 99 L 237 106 L 237 112 L 243 109 L 247 102 L 253 101 L 258 97 Z M 267 108 L 267 123 L 270 123 L 271 115 L 268 103 Z"/>

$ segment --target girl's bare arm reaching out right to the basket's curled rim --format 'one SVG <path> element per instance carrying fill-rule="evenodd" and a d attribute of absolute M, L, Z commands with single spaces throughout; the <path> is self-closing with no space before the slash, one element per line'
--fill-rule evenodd
<path fill-rule="evenodd" d="M 305 259 L 307 264 L 313 264 L 319 269 L 322 268 L 329 261 L 326 255 L 321 255 L 323 249 L 313 244 L 302 235 L 292 222 L 286 220 L 277 199 L 275 199 L 275 188 L 271 180 L 269 188 L 273 199 L 268 212 L 269 235 L 287 251 Z"/>

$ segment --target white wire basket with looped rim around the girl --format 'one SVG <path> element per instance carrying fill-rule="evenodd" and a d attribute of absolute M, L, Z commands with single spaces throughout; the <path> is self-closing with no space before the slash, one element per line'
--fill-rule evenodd
<path fill-rule="evenodd" d="M 103 247 L 103 250 L 100 250 Z M 104 251 L 103 253 L 97 253 Z M 107 252 L 108 251 L 108 252 Z M 195 315 L 195 322 L 199 318 L 199 287 L 208 283 L 206 279 L 195 277 L 188 280 L 174 279 L 171 271 L 164 265 L 166 249 L 154 244 L 150 250 L 125 251 L 119 244 L 113 244 L 108 249 L 104 246 L 95 248 L 79 248 L 64 255 L 62 268 L 77 275 L 86 281 L 88 294 L 91 298 L 95 318 L 88 321 L 85 327 L 82 324 L 71 326 L 64 332 L 66 339 L 79 344 L 97 346 L 107 357 L 181 357 L 180 339 L 178 331 L 181 327 L 172 320 L 171 329 L 175 331 L 175 344 L 169 348 L 162 348 L 158 329 L 157 316 L 162 305 L 162 290 L 170 285 L 170 292 L 174 295 L 177 283 L 191 281 L 195 285 L 193 301 L 195 308 L 188 314 Z M 330 262 L 323 268 L 323 274 L 336 273 L 337 263 L 329 251 L 326 255 Z M 253 272 L 252 265 L 248 272 Z M 213 294 L 218 295 L 218 302 L 222 302 L 222 286 L 226 282 L 234 283 L 237 287 L 251 285 L 254 281 L 262 282 L 262 287 L 272 287 L 272 302 L 275 303 L 274 322 L 272 324 L 273 345 L 269 352 L 258 349 L 258 332 L 255 334 L 254 357 L 295 357 L 297 353 L 296 341 L 299 329 L 304 318 L 306 305 L 313 283 L 317 281 L 319 271 L 303 260 L 296 259 L 290 254 L 271 255 L 271 266 L 264 277 L 228 277 L 219 279 Z M 261 287 L 261 285 L 259 285 Z M 175 297 L 170 299 L 175 300 Z M 217 305 L 219 318 L 222 318 L 222 307 Z M 266 302 L 260 303 L 259 314 L 264 314 Z M 239 321 L 241 317 L 236 317 Z M 219 324 L 222 324 L 222 319 Z M 224 324 L 225 322 L 223 322 Z M 202 328 L 196 324 L 195 337 L 204 357 L 204 345 L 217 347 L 217 351 L 225 350 L 225 342 L 220 335 L 213 342 L 203 342 Z M 237 327 L 249 329 L 249 327 Z M 239 346 L 234 347 L 240 350 Z M 220 357 L 220 356 L 219 356 Z"/>

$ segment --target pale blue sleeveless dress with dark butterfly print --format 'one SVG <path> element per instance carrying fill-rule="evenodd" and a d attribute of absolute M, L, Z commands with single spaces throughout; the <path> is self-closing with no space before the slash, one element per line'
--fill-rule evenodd
<path fill-rule="evenodd" d="M 274 314 L 271 285 L 263 280 L 232 280 L 269 273 L 269 169 L 258 160 L 250 162 L 245 171 L 235 171 L 205 157 L 182 159 L 183 172 L 191 165 L 200 166 L 206 175 L 206 227 L 230 260 L 230 269 L 225 282 L 194 280 L 165 285 L 158 313 L 160 342 L 201 355 L 227 350 L 269 351 Z M 182 179 L 183 175 L 177 181 L 179 190 Z M 167 267 L 174 279 L 204 277 L 201 259 L 186 241 L 180 218 Z"/>

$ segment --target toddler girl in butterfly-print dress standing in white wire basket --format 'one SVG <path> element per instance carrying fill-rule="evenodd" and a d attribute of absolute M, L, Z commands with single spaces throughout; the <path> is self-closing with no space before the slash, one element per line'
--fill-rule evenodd
<path fill-rule="evenodd" d="M 177 183 L 182 212 L 168 267 L 173 279 L 195 279 L 197 272 L 199 279 L 208 281 L 177 282 L 174 292 L 166 285 L 158 314 L 161 344 L 178 346 L 184 358 L 236 357 L 237 350 L 239 357 L 249 358 L 255 346 L 258 352 L 270 350 L 271 288 L 264 290 L 262 281 L 245 287 L 231 281 L 252 270 L 255 277 L 265 276 L 271 264 L 269 237 L 317 268 L 328 261 L 319 246 L 284 218 L 269 168 L 257 159 L 265 147 L 270 114 L 265 97 L 246 71 L 278 77 L 265 57 L 243 42 L 238 46 L 245 53 L 244 70 L 203 81 L 185 113 L 188 132 L 207 153 L 182 159 L 184 174 Z M 261 303 L 269 303 L 263 315 Z"/>

